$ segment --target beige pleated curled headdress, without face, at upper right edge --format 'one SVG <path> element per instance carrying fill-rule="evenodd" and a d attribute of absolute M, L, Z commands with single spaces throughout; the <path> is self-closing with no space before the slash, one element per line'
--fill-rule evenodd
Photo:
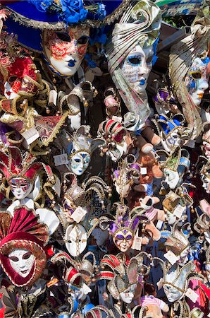
<path fill-rule="evenodd" d="M 209 1 L 199 10 L 191 27 L 191 35 L 171 47 L 169 77 L 173 91 L 183 107 L 187 120 L 188 139 L 196 139 L 202 130 L 202 119 L 187 91 L 184 79 L 195 57 L 206 59 L 209 54 L 210 16 Z"/>

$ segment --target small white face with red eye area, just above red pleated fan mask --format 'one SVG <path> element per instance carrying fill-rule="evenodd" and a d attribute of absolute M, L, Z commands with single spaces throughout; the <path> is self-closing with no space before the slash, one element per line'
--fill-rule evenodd
<path fill-rule="evenodd" d="M 18 200 L 25 199 L 33 189 L 33 184 L 26 178 L 17 177 L 9 181 L 11 192 Z"/>

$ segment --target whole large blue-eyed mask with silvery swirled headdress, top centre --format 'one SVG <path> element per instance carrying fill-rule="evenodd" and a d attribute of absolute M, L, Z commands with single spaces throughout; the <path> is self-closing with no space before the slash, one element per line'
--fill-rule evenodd
<path fill-rule="evenodd" d="M 136 23 L 137 20 L 141 22 Z M 107 50 L 113 82 L 128 110 L 139 114 L 142 123 L 149 117 L 144 89 L 152 68 L 160 25 L 160 9 L 152 1 L 138 1 L 116 23 L 112 45 Z"/>

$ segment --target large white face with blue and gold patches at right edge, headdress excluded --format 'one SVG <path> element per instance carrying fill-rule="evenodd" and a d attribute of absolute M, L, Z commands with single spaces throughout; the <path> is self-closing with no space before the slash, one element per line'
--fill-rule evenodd
<path fill-rule="evenodd" d="M 192 61 L 192 66 L 185 78 L 187 90 L 190 93 L 192 101 L 197 106 L 202 102 L 204 91 L 209 87 L 209 75 L 207 73 L 208 63 L 208 57 L 205 60 L 197 57 L 194 61 Z"/>

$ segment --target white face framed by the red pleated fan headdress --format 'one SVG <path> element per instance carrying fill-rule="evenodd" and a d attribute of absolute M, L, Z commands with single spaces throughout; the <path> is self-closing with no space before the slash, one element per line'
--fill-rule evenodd
<path fill-rule="evenodd" d="M 35 256 L 27 249 L 14 249 L 8 254 L 8 259 L 13 270 L 24 278 L 30 273 L 35 263 Z"/>

